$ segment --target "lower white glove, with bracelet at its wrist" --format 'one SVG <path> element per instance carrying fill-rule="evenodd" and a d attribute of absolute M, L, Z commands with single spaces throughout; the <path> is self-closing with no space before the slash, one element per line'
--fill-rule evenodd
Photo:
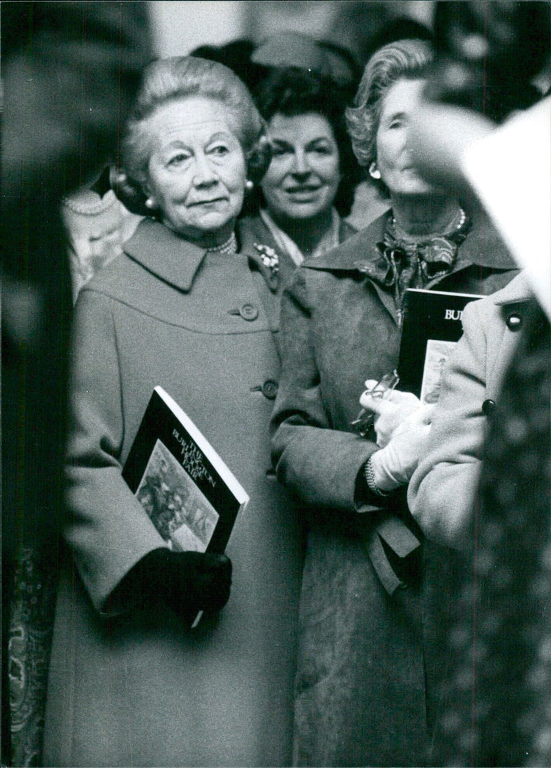
<path fill-rule="evenodd" d="M 434 406 L 420 406 L 394 430 L 383 449 L 371 455 L 375 485 L 381 491 L 393 491 L 407 485 L 423 455 L 430 432 Z"/>

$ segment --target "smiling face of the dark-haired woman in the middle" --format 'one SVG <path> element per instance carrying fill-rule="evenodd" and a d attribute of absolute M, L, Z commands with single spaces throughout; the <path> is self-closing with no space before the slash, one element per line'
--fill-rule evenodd
<path fill-rule="evenodd" d="M 310 219 L 333 205 L 340 181 L 339 150 L 329 122 L 315 112 L 268 124 L 272 160 L 261 186 L 274 218 Z"/>

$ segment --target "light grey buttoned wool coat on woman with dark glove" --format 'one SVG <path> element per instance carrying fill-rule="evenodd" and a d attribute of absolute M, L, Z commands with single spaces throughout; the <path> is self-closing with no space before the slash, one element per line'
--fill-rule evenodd
<path fill-rule="evenodd" d="M 58 595 L 45 765 L 290 763 L 300 535 L 270 462 L 277 281 L 247 232 L 238 235 L 241 253 L 205 255 L 144 220 L 79 296 L 71 558 Z M 194 631 L 161 601 L 147 614 L 101 614 L 124 574 L 164 545 L 121 478 L 156 385 L 251 496 L 227 547 L 230 600 Z"/>

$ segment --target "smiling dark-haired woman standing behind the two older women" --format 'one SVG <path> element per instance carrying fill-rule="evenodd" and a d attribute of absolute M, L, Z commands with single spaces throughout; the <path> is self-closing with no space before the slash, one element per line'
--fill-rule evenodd
<path fill-rule="evenodd" d="M 319 257 L 356 231 L 342 218 L 360 180 L 345 93 L 324 75 L 291 67 L 274 70 L 255 94 L 272 159 L 251 196 L 259 210 L 249 223 L 259 237 L 273 238 L 284 283 L 305 257 Z"/>

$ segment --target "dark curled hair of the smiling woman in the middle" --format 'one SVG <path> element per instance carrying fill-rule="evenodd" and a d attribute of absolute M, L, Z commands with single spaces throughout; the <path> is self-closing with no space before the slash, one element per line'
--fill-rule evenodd
<path fill-rule="evenodd" d="M 340 161 L 341 179 L 334 206 L 341 216 L 350 214 L 361 169 L 347 134 L 344 118 L 346 89 L 319 72 L 287 67 L 274 69 L 254 91 L 254 100 L 267 123 L 275 114 L 290 118 L 309 112 L 320 114 L 327 120 L 337 143 Z"/>

